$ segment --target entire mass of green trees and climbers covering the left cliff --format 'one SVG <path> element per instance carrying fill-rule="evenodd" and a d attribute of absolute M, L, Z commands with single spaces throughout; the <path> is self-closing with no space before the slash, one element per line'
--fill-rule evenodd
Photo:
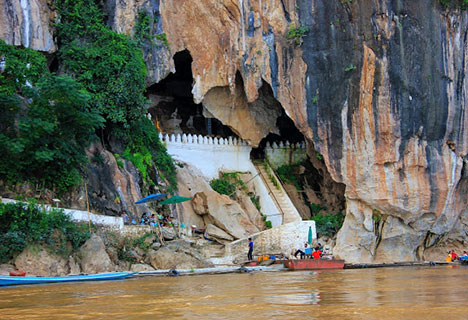
<path fill-rule="evenodd" d="M 47 71 L 45 57 L 0 40 L 5 70 L 0 73 L 0 179 L 30 181 L 57 193 L 81 182 L 84 149 L 99 133 L 123 146 L 115 154 L 140 171 L 144 185 L 156 173 L 177 190 L 176 169 L 145 117 L 146 69 L 140 46 L 150 38 L 150 18 L 138 14 L 135 41 L 105 24 L 97 0 L 55 0 L 58 58 L 62 74 Z M 165 34 L 159 40 L 167 45 Z M 22 98 L 24 99 L 22 99 Z M 101 159 L 93 157 L 95 163 Z M 156 167 L 157 171 L 153 168 Z M 151 178 L 153 177 L 153 178 Z"/>

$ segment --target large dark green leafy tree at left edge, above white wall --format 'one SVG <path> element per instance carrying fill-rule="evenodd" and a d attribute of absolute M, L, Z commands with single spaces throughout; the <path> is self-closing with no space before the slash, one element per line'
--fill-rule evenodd
<path fill-rule="evenodd" d="M 41 54 L 1 40 L 0 51 L 6 53 L 0 74 L 0 179 L 64 192 L 80 183 L 84 148 L 103 119 L 75 80 L 46 71 Z"/>

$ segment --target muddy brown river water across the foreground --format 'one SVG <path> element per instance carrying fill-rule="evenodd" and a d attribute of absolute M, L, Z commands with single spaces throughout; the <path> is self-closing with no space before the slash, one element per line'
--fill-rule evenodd
<path fill-rule="evenodd" d="M 257 272 L 0 288 L 0 319 L 468 319 L 468 268 Z"/>

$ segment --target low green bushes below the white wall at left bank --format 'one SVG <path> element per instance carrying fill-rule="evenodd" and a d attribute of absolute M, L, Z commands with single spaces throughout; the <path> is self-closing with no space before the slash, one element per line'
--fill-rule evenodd
<path fill-rule="evenodd" d="M 0 203 L 0 262 L 31 244 L 44 244 L 66 257 L 89 237 L 88 226 L 73 223 L 63 210 L 46 211 L 35 203 Z"/>

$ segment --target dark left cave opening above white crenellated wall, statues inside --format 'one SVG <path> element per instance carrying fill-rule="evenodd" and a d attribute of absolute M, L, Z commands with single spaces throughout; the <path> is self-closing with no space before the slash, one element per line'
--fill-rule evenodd
<path fill-rule="evenodd" d="M 203 116 L 203 105 L 193 101 L 192 61 L 188 50 L 177 52 L 174 55 L 176 72 L 147 89 L 151 101 L 148 112 L 158 130 L 168 134 L 236 137 L 218 119 Z"/>

